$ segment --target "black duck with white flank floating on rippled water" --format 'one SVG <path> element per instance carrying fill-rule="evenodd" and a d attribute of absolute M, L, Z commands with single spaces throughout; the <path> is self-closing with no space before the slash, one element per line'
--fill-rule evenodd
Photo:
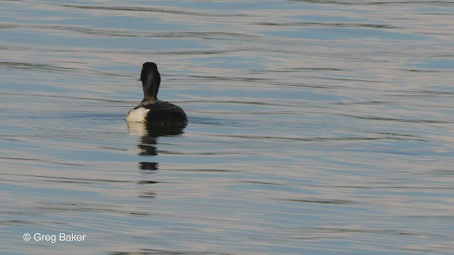
<path fill-rule="evenodd" d="M 142 65 L 140 81 L 143 86 L 143 100 L 126 115 L 128 123 L 145 123 L 147 126 L 184 128 L 187 115 L 183 109 L 173 103 L 157 99 L 161 83 L 157 65 L 145 62 Z"/>

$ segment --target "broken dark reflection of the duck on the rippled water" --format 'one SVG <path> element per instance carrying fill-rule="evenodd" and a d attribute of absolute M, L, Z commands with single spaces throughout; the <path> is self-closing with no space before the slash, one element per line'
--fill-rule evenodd
<path fill-rule="evenodd" d="M 155 157 L 158 154 L 157 138 L 168 135 L 182 135 L 182 128 L 157 128 L 145 125 L 145 123 L 128 123 L 129 135 L 140 136 L 140 142 L 137 145 L 139 155 L 145 157 Z M 158 162 L 139 162 L 138 168 L 143 179 L 137 181 L 139 198 L 155 198 L 156 193 L 150 191 L 151 186 L 157 181 L 152 180 L 151 174 L 155 174 L 159 169 Z"/>

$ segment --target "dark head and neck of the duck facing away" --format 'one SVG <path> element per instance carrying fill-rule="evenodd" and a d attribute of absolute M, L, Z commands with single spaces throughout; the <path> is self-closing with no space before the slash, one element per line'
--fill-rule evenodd
<path fill-rule="evenodd" d="M 157 100 L 157 90 L 161 83 L 161 76 L 157 72 L 157 66 L 153 62 L 146 62 L 142 65 L 140 81 L 143 85 L 143 101 Z"/>

